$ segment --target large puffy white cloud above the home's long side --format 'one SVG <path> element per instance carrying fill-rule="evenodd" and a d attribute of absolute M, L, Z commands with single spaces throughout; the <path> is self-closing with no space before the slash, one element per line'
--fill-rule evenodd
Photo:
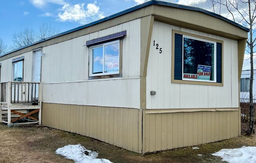
<path fill-rule="evenodd" d="M 86 8 L 84 5 L 85 4 L 65 4 L 62 7 L 62 12 L 58 14 L 59 18 L 57 20 L 62 22 L 75 21 L 84 24 L 87 22 L 88 18 L 92 20 L 104 18 L 104 15 L 101 11 L 99 11 L 100 7 L 97 6 L 96 2 L 93 4 L 87 4 Z"/>

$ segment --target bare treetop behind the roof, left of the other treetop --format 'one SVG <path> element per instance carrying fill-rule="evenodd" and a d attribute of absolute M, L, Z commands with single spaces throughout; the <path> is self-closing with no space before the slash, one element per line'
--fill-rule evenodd
<path fill-rule="evenodd" d="M 30 43 L 36 42 L 37 40 L 38 39 L 35 30 L 32 28 L 26 28 L 24 29 L 24 31 L 21 31 L 20 33 L 13 34 L 13 48 L 19 48 Z"/>

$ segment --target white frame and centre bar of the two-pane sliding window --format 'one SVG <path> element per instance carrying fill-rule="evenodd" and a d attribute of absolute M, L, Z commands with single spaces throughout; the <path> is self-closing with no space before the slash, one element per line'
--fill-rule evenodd
<path fill-rule="evenodd" d="M 115 72 L 104 72 L 104 68 L 105 68 L 105 46 L 106 45 L 111 45 L 111 44 L 114 44 L 114 43 L 118 43 L 118 47 L 119 47 L 119 52 L 118 52 L 118 56 L 119 56 L 119 69 L 118 71 L 115 71 Z M 102 68 L 102 73 L 98 73 L 98 74 L 93 74 L 92 73 L 92 70 L 93 70 L 93 49 L 96 49 L 98 47 L 103 47 L 103 68 Z M 90 59 L 90 62 L 89 62 L 89 72 L 90 72 L 90 75 L 89 76 L 102 76 L 102 75 L 113 75 L 113 74 L 119 74 L 120 73 L 120 40 L 116 40 L 116 41 L 112 41 L 112 42 L 107 42 L 107 43 L 102 43 L 100 45 L 96 45 L 96 46 L 92 46 L 90 47 L 90 56 L 89 56 L 89 59 Z"/>

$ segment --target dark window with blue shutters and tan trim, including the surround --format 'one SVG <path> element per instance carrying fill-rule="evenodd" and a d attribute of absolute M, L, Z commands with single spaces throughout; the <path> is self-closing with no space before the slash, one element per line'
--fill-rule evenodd
<path fill-rule="evenodd" d="M 223 86 L 223 41 L 172 30 L 172 83 Z"/>

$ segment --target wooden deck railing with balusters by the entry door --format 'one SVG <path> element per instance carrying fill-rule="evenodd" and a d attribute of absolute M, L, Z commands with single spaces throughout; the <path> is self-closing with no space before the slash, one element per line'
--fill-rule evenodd
<path fill-rule="evenodd" d="M 40 82 L 1 82 L 0 91 L 0 105 L 1 103 L 39 105 L 41 100 Z"/>

